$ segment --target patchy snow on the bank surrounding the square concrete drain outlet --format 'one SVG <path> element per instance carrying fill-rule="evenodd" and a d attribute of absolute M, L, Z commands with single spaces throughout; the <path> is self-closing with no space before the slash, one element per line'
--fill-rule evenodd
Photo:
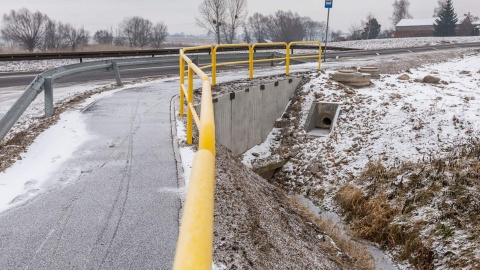
<path fill-rule="evenodd" d="M 478 53 L 410 69 L 410 79 L 405 81 L 399 80 L 399 75 L 382 75 L 371 87 L 360 89 L 331 81 L 331 73 L 310 75 L 310 82 L 299 93 L 301 112 L 290 116 L 292 121 L 295 116 L 300 118 L 299 126 L 302 127 L 314 100 L 342 102 L 338 125 L 330 136 L 312 138 L 303 130 L 282 135 L 279 129 L 274 129 L 269 136 L 277 138 L 275 144 L 281 136 L 289 137 L 283 138 L 284 142 L 293 143 L 271 152 L 269 150 L 276 146 L 266 142 L 243 156 L 246 164 L 256 162 L 253 153 L 258 155 L 257 161 L 277 154 L 290 157 L 277 173 L 276 181 L 292 192 L 308 196 L 324 209 L 336 209 L 333 197 L 339 188 L 353 184 L 352 179 L 357 179 L 369 162 L 380 160 L 386 168 L 395 168 L 407 161 L 445 157 L 459 143 L 480 134 Z M 439 77 L 441 83 L 423 83 L 426 75 Z M 435 225 L 440 214 L 435 206 L 427 205 L 403 218 L 412 224 L 419 220 L 433 223 L 422 229 L 422 235 L 428 236 L 435 234 L 438 226 L 444 228 L 438 223 Z M 449 237 L 448 240 L 434 238 L 435 254 L 440 257 L 442 254 L 465 254 L 458 256 L 467 265 L 469 260 L 478 260 L 477 255 L 471 256 L 472 250 L 479 248 L 478 243 L 471 240 L 471 232 L 457 230 Z M 457 261 L 458 256 L 454 257 Z M 435 260 L 435 266 L 448 267 L 449 259 L 440 257 Z"/>

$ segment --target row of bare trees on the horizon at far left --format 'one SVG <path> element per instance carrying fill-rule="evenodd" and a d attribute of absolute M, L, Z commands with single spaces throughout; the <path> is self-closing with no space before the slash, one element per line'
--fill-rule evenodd
<path fill-rule="evenodd" d="M 2 38 L 29 52 L 34 50 L 75 51 L 89 44 L 90 33 L 84 27 L 76 28 L 50 19 L 39 11 L 31 12 L 26 8 L 11 10 L 3 15 L 0 28 Z M 138 16 L 125 18 L 116 30 L 98 30 L 93 40 L 98 44 L 115 44 L 130 47 L 151 46 L 159 48 L 168 35 L 163 22 L 153 24 L 150 20 Z"/>

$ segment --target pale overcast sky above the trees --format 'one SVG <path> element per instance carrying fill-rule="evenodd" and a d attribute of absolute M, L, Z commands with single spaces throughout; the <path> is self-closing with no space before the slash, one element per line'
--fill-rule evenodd
<path fill-rule="evenodd" d="M 98 29 L 116 28 L 127 16 L 141 16 L 152 22 L 163 21 L 169 33 L 202 34 L 206 31 L 195 25 L 198 6 L 202 0 L 0 0 L 1 13 L 26 7 L 39 10 L 50 18 L 77 27 L 84 26 L 92 34 Z M 331 29 L 348 32 L 350 25 L 359 24 L 372 13 L 382 29 L 393 27 L 389 17 L 393 0 L 333 0 L 330 13 Z M 432 17 L 437 0 L 410 0 L 414 18 Z M 248 0 L 249 15 L 276 10 L 291 10 L 300 16 L 326 21 L 325 0 Z M 457 14 L 471 12 L 480 16 L 479 0 L 453 0 Z"/>

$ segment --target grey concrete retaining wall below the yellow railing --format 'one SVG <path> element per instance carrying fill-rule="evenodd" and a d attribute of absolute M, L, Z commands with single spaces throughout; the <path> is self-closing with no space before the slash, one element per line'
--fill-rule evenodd
<path fill-rule="evenodd" d="M 301 78 L 291 78 L 215 98 L 217 141 L 234 155 L 262 143 L 282 116 L 300 81 Z M 200 107 L 196 106 L 196 110 L 200 112 Z"/>

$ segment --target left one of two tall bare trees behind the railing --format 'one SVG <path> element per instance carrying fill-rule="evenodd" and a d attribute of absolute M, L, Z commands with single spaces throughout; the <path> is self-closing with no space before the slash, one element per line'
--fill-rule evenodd
<path fill-rule="evenodd" d="M 220 27 L 227 19 L 226 0 L 203 0 L 199 7 L 200 16 L 197 25 L 214 33 L 220 44 Z"/>

